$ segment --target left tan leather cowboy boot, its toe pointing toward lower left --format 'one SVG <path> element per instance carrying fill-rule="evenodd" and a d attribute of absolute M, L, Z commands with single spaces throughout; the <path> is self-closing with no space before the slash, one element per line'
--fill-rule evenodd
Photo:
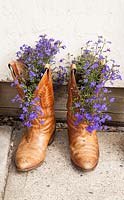
<path fill-rule="evenodd" d="M 9 67 L 16 80 L 20 63 L 18 61 L 10 63 Z M 24 92 L 19 84 L 17 84 L 17 90 L 23 98 Z M 40 166 L 45 159 L 47 146 L 53 140 L 55 132 L 54 94 L 49 65 L 46 66 L 46 71 L 34 96 L 40 98 L 38 105 L 41 105 L 43 115 L 33 120 L 32 127 L 27 129 L 20 141 L 15 156 L 18 171 L 28 171 Z M 41 120 L 44 121 L 43 124 L 40 123 Z"/>

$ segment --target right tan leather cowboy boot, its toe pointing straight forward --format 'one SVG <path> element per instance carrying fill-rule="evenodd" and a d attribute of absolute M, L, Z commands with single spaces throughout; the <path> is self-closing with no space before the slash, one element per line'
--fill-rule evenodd
<path fill-rule="evenodd" d="M 74 125 L 75 117 L 72 113 L 72 103 L 75 97 L 79 99 L 75 72 L 76 66 L 73 64 L 68 85 L 67 102 L 67 123 L 71 160 L 82 170 L 90 171 L 98 163 L 98 139 L 95 130 L 92 133 L 86 130 L 87 125 L 85 123 L 80 123 L 77 126 Z"/>

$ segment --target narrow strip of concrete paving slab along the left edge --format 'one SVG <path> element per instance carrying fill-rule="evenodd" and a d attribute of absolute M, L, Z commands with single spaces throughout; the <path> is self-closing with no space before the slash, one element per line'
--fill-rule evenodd
<path fill-rule="evenodd" d="M 4 196 L 4 187 L 8 173 L 8 153 L 10 149 L 12 128 L 0 126 L 0 200 Z"/>

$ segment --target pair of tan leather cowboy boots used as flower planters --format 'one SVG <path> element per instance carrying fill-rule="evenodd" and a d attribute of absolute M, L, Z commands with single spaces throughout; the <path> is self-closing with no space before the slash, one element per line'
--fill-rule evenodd
<path fill-rule="evenodd" d="M 9 68 L 14 80 L 18 80 L 16 85 L 21 98 L 24 97 L 23 89 L 20 86 L 19 75 L 23 68 L 22 63 L 15 61 L 9 63 Z M 74 125 L 75 117 L 72 114 L 72 103 L 75 95 L 78 95 L 78 88 L 75 80 L 75 65 L 72 65 L 71 75 L 68 85 L 67 102 L 67 123 L 71 160 L 84 171 L 90 171 L 98 163 L 99 146 L 96 131 L 89 133 L 83 123 Z M 48 144 L 53 141 L 55 134 L 55 112 L 54 93 L 52 85 L 52 73 L 50 66 L 46 65 L 46 70 L 39 82 L 38 89 L 34 92 L 34 97 L 40 100 L 38 104 L 43 110 L 43 115 L 32 121 L 32 127 L 28 128 L 18 145 L 15 164 L 18 171 L 29 171 L 37 168 L 45 159 Z M 41 124 L 40 121 L 44 123 Z"/>

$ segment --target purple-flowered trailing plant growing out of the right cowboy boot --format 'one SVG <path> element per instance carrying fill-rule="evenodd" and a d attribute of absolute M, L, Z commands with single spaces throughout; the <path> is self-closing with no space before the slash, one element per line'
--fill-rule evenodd
<path fill-rule="evenodd" d="M 109 59 L 109 41 L 102 36 L 94 43 L 88 41 L 82 49 L 82 53 L 74 60 L 77 66 L 76 80 L 79 88 L 80 101 L 74 100 L 75 125 L 86 123 L 87 130 L 106 129 L 103 124 L 111 120 L 107 114 L 108 106 L 115 98 L 109 97 L 110 89 L 105 87 L 109 81 L 121 80 L 119 65 Z M 106 47 L 107 46 L 107 47 Z"/>

